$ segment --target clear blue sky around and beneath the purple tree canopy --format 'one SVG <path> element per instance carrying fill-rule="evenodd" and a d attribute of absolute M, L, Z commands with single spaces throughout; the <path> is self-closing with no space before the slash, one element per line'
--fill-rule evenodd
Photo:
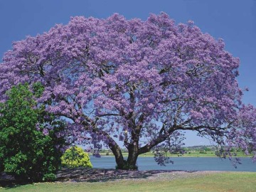
<path fill-rule="evenodd" d="M 0 58 L 11 43 L 48 31 L 70 16 L 107 18 L 119 13 L 145 20 L 150 13 L 169 14 L 176 23 L 193 20 L 203 32 L 223 38 L 225 49 L 240 58 L 240 87 L 249 87 L 243 101 L 256 106 L 255 0 L 0 0 Z M 186 145 L 208 144 L 188 133 Z"/>

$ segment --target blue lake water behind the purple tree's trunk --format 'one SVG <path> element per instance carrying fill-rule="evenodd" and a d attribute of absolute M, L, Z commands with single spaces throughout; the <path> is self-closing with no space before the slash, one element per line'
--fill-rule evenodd
<path fill-rule="evenodd" d="M 153 157 L 139 157 L 137 165 L 140 171 L 146 170 L 182 170 L 182 171 L 253 171 L 256 172 L 256 162 L 252 159 L 242 157 L 241 163 L 235 169 L 229 159 L 218 157 L 174 157 L 174 164 L 159 166 Z M 115 169 L 114 156 L 102 156 L 100 158 L 90 157 L 93 168 Z"/>

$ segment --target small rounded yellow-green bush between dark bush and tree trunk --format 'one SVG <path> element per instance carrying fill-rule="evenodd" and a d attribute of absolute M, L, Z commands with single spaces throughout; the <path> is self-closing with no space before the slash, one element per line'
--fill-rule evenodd
<path fill-rule="evenodd" d="M 72 146 L 61 156 L 61 163 L 68 168 L 92 168 L 89 155 L 78 146 Z"/>

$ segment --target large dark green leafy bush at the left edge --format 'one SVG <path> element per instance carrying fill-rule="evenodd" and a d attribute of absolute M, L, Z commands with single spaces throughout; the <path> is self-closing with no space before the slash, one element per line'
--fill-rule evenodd
<path fill-rule="evenodd" d="M 42 92 L 39 83 L 33 92 L 27 84 L 17 85 L 8 92 L 9 99 L 0 103 L 0 171 L 18 180 L 52 181 L 60 166 L 62 154 L 55 146 L 62 147 L 65 140 L 56 133 L 65 124 L 50 117 L 43 105 L 37 106 L 33 97 Z"/>

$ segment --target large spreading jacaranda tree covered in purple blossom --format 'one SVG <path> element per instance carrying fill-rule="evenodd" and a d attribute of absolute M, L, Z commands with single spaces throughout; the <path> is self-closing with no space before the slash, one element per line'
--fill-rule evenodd
<path fill-rule="evenodd" d="M 15 42 L 0 66 L 1 100 L 18 82 L 41 82 L 38 102 L 67 119 L 73 139 L 110 147 L 119 169 L 135 168 L 139 154 L 183 130 L 227 146 L 219 156 L 233 146 L 255 151 L 255 108 L 242 105 L 235 79 L 239 59 L 192 21 L 78 16 Z"/>

